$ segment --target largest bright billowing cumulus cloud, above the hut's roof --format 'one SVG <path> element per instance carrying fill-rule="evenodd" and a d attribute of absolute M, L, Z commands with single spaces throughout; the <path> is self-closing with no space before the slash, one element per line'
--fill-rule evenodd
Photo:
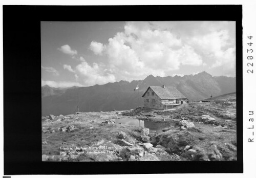
<path fill-rule="evenodd" d="M 92 44 L 97 48 L 92 48 Z M 126 23 L 124 31 L 109 38 L 108 43 L 92 41 L 90 49 L 105 55 L 113 72 L 127 80 L 150 74 L 165 76 L 166 71 L 178 70 L 181 65 L 203 64 L 193 47 L 170 31 L 156 29 L 147 22 Z"/>

